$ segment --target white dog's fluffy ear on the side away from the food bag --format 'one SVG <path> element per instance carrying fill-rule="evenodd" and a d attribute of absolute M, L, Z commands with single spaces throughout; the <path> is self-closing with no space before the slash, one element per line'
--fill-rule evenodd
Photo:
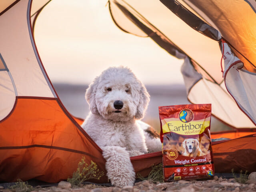
<path fill-rule="evenodd" d="M 99 77 L 96 77 L 93 82 L 89 85 L 88 89 L 86 90 L 85 93 L 85 98 L 86 101 L 88 102 L 89 106 L 90 106 L 90 110 L 93 114 L 98 114 L 98 109 L 96 106 L 96 101 L 95 101 L 95 95 L 96 95 L 96 91 L 98 88 L 98 84 L 99 84 Z"/>

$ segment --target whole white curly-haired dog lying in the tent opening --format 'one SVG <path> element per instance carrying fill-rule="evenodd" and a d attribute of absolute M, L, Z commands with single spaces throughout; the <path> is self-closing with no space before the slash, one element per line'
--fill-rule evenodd
<path fill-rule="evenodd" d="M 145 86 L 130 69 L 111 67 L 94 79 L 85 97 L 91 112 L 82 128 L 102 149 L 108 178 L 114 186 L 133 185 L 130 157 L 162 150 L 156 132 L 138 121 L 150 100 Z"/>

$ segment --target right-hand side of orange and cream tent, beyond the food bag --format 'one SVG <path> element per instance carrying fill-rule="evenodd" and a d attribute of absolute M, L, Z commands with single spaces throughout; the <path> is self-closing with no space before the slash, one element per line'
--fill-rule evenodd
<path fill-rule="evenodd" d="M 188 100 L 211 103 L 213 116 L 233 128 L 212 132 L 230 139 L 212 143 L 216 172 L 255 170 L 256 2 L 110 0 L 109 10 L 124 32 L 184 59 Z"/>

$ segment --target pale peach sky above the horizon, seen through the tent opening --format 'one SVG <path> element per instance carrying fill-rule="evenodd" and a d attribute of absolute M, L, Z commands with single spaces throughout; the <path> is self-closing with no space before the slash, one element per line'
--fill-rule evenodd
<path fill-rule="evenodd" d="M 52 0 L 40 13 L 36 46 L 52 82 L 89 84 L 110 66 L 127 66 L 144 83 L 183 84 L 178 60 L 155 44 L 122 32 L 107 0 Z"/>

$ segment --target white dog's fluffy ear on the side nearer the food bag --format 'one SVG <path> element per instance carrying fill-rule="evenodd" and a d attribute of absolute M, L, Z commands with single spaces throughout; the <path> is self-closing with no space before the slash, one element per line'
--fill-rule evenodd
<path fill-rule="evenodd" d="M 144 114 L 148 108 L 149 100 L 150 96 L 146 90 L 146 87 L 142 84 L 140 89 L 140 100 L 137 106 L 137 112 L 135 114 L 136 119 L 141 119 L 144 117 Z"/>

